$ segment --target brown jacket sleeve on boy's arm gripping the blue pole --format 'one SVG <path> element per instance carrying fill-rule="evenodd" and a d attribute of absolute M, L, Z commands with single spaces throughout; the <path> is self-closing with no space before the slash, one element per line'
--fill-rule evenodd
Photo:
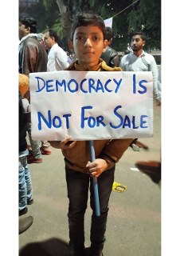
<path fill-rule="evenodd" d="M 108 168 L 115 165 L 122 158 L 124 152 L 130 146 L 133 138 L 122 138 L 122 139 L 112 139 L 104 147 L 103 152 L 100 154 L 100 158 L 106 160 L 109 164 Z"/>

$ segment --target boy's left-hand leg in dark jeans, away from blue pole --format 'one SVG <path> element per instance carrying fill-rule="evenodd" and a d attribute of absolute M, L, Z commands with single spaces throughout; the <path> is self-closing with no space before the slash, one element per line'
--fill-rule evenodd
<path fill-rule="evenodd" d="M 84 214 L 88 202 L 89 175 L 65 168 L 68 189 L 68 228 L 72 255 L 84 256 Z"/>

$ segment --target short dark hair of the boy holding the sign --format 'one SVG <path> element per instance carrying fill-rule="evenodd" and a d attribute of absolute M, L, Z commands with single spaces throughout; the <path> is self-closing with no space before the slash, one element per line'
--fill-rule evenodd
<path fill-rule="evenodd" d="M 71 40 L 73 40 L 73 35 L 78 26 L 98 26 L 100 30 L 103 32 L 105 38 L 105 24 L 103 18 L 101 18 L 97 14 L 92 13 L 79 13 L 76 14 L 74 18 L 74 22 L 71 27 Z"/>

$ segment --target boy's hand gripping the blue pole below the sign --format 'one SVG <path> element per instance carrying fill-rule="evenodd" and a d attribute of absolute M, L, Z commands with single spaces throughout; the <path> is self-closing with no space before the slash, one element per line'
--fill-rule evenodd
<path fill-rule="evenodd" d="M 104 172 L 104 170 L 107 170 L 108 162 L 106 162 L 106 160 L 104 160 L 104 159 L 97 158 L 93 162 L 88 161 L 86 167 L 88 167 L 88 169 L 89 169 L 88 173 L 92 177 L 97 178 L 100 176 L 100 174 L 102 174 Z"/>

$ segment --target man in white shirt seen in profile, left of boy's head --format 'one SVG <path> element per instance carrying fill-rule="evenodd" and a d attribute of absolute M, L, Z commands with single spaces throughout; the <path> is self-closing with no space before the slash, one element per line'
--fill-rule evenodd
<path fill-rule="evenodd" d="M 59 38 L 54 30 L 46 30 L 44 34 L 45 46 L 49 49 L 47 71 L 65 70 L 68 64 L 68 56 L 60 46 L 58 46 Z"/>

